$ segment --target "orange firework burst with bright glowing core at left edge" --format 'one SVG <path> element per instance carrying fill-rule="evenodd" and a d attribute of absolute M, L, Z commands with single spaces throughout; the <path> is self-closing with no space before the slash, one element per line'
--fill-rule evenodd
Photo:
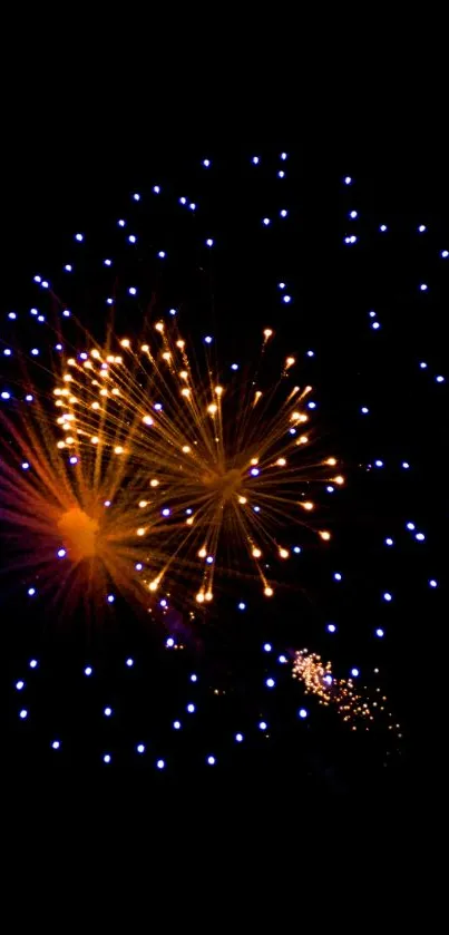
<path fill-rule="evenodd" d="M 111 585 L 128 598 L 146 600 L 135 572 L 141 557 L 137 478 L 127 475 L 126 459 L 104 460 L 92 448 L 81 461 L 67 450 L 70 438 L 61 447 L 45 403 L 36 390 L 28 391 L 9 416 L 1 413 L 0 518 L 8 569 L 31 573 L 65 611 L 84 602 L 98 613 Z"/>

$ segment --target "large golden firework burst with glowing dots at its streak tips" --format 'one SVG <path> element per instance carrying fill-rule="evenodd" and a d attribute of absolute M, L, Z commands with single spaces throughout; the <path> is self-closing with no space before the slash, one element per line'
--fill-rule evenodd
<path fill-rule="evenodd" d="M 272 335 L 264 331 L 263 354 Z M 59 451 L 92 462 L 94 486 L 107 466 L 128 508 L 138 490 L 134 536 L 149 592 L 175 579 L 203 604 L 223 573 L 256 574 L 273 595 L 267 563 L 289 558 L 292 526 L 311 526 L 313 486 L 344 483 L 335 458 L 306 454 L 312 388 L 293 383 L 294 364 L 287 357 L 266 391 L 254 377 L 227 386 L 209 358 L 202 376 L 164 321 L 140 341 L 111 338 L 107 349 L 90 343 L 65 358 L 53 391 Z M 331 537 L 320 524 L 315 532 Z"/>

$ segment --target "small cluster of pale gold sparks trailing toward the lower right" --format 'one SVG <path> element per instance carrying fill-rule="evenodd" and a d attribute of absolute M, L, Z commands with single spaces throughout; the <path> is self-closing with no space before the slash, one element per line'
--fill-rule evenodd
<path fill-rule="evenodd" d="M 318 653 L 297 651 L 292 674 L 303 682 L 306 694 L 315 695 L 324 707 L 334 707 L 352 730 L 357 730 L 358 725 L 369 730 L 377 715 L 383 715 L 390 721 L 390 730 L 399 729 L 399 724 L 394 725 L 391 721 L 392 714 L 385 708 L 387 697 L 379 688 L 373 699 L 363 695 L 353 679 L 338 679 L 333 675 L 332 664 L 323 662 Z"/>

